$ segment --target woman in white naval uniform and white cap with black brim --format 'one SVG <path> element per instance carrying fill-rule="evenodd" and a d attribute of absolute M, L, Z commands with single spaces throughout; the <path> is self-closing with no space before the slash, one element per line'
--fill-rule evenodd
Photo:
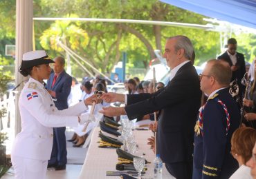
<path fill-rule="evenodd" d="M 43 80 L 51 74 L 49 63 L 54 63 L 44 50 L 27 52 L 23 55 L 19 72 L 30 76 L 19 97 L 21 132 L 17 134 L 12 147 L 12 165 L 15 178 L 43 179 L 53 147 L 53 127 L 84 123 L 89 116 L 79 116 L 88 109 L 95 96 L 77 103 L 68 109 L 58 111 L 51 95 L 44 88 Z"/>

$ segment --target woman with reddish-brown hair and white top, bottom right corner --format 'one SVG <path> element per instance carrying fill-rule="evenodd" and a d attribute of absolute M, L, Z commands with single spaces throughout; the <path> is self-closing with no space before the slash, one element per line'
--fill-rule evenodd
<path fill-rule="evenodd" d="M 256 142 L 256 130 L 251 127 L 240 127 L 232 135 L 231 138 L 231 154 L 237 160 L 239 169 L 230 177 L 250 179 L 250 167 L 246 166 L 246 162 L 252 156 L 252 150 Z"/>

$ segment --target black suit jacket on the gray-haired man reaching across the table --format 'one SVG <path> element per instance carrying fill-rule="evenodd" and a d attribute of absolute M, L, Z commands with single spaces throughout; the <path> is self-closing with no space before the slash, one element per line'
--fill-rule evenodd
<path fill-rule="evenodd" d="M 200 101 L 199 76 L 189 62 L 164 89 L 154 94 L 128 95 L 125 111 L 131 119 L 162 109 L 158 119 L 157 153 L 163 162 L 191 162 Z"/>

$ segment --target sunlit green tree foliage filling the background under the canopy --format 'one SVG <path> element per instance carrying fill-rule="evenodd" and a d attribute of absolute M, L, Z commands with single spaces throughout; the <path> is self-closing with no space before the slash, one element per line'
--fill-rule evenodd
<path fill-rule="evenodd" d="M 9 18 L 1 18 L 4 23 L 0 30 L 2 38 L 14 37 L 12 28 L 14 21 L 14 0 L 1 0 L 1 13 Z M 34 17 L 84 17 L 109 19 L 141 19 L 152 21 L 174 21 L 181 23 L 205 24 L 203 16 L 170 6 L 157 0 L 127 1 L 127 0 L 34 0 Z M 10 12 L 9 12 L 9 11 Z M 14 10 L 15 11 L 15 10 Z M 65 55 L 64 50 L 57 46 L 56 40 L 74 50 L 89 61 L 94 67 L 104 73 L 111 72 L 121 58 L 121 52 L 127 52 L 129 67 L 146 68 L 154 59 L 154 49 L 163 50 L 165 39 L 169 36 L 183 34 L 188 36 L 194 44 L 196 65 L 208 59 L 214 59 L 220 53 L 219 33 L 192 28 L 177 28 L 172 26 L 143 25 L 138 23 L 102 23 L 86 21 L 35 21 L 36 49 L 46 49 L 51 56 Z M 5 34 L 6 33 L 6 34 Z M 8 34 L 10 33 L 10 34 Z M 5 34 L 3 36 L 3 34 Z M 256 50 L 255 34 L 235 35 L 239 42 L 239 52 L 251 61 Z M 1 51 L 0 51 L 1 52 Z M 82 65 L 85 65 L 81 61 Z M 88 69 L 95 73 L 89 66 Z M 75 75 L 84 71 L 73 61 Z"/>

